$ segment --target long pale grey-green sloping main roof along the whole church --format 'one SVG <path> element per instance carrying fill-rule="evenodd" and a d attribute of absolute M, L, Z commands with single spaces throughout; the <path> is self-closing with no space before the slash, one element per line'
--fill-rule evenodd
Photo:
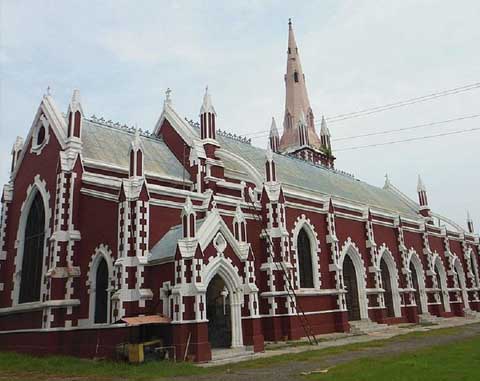
<path fill-rule="evenodd" d="M 199 128 L 186 125 L 190 129 L 191 136 L 199 136 Z M 83 157 L 85 159 L 128 170 L 128 152 L 134 137 L 133 132 L 105 126 L 87 119 L 84 119 L 83 128 Z M 181 163 L 162 139 L 142 136 L 141 140 L 145 150 L 147 174 L 171 177 L 177 180 L 183 178 Z M 217 134 L 217 141 L 222 149 L 247 161 L 263 177 L 265 149 L 222 134 Z M 244 166 L 235 157 L 225 155 L 222 160 L 226 170 L 241 173 L 246 179 L 248 178 Z M 277 178 L 285 185 L 386 209 L 405 217 L 418 218 L 418 208 L 413 207 L 416 204 L 405 202 L 395 192 L 388 189 L 367 184 L 351 176 L 291 156 L 274 154 L 274 160 L 277 164 Z M 168 234 L 174 234 L 174 232 L 168 232 Z M 181 231 L 178 234 L 181 234 Z"/>

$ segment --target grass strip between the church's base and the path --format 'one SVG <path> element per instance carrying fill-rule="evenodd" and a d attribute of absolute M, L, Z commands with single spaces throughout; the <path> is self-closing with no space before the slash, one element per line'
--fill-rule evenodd
<path fill-rule="evenodd" d="M 428 336 L 455 335 L 462 328 L 436 329 L 426 332 L 410 332 L 386 340 L 366 343 L 354 343 L 320 350 L 300 353 L 288 353 L 279 356 L 261 358 L 215 368 L 200 368 L 191 363 L 172 363 L 167 361 L 148 362 L 131 365 L 112 361 L 94 361 L 68 356 L 34 357 L 23 354 L 0 352 L 0 375 L 22 377 L 23 379 L 42 379 L 51 377 L 82 377 L 82 380 L 132 380 L 171 378 L 174 376 L 195 376 L 219 372 L 271 367 L 289 361 L 321 361 L 327 356 L 341 355 L 350 351 L 368 350 L 392 342 L 421 340 Z M 480 345 L 479 345 L 480 348 Z M 478 352 L 477 352 L 478 357 Z M 8 378 L 7 378 L 8 379 Z"/>

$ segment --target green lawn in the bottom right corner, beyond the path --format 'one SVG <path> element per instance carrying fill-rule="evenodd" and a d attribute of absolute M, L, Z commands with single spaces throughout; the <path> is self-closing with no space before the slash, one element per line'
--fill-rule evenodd
<path fill-rule="evenodd" d="M 338 365 L 325 374 L 306 377 L 315 381 L 477 381 L 480 379 L 480 337 L 403 353 L 363 358 Z"/>

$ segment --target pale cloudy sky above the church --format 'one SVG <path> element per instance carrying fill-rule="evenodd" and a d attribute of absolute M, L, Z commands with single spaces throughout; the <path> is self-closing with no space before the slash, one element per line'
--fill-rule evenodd
<path fill-rule="evenodd" d="M 209 85 L 221 129 L 268 130 L 283 118 L 287 22 L 299 44 L 317 119 L 480 82 L 478 0 L 0 0 L 0 183 L 47 86 L 62 111 L 83 108 L 152 129 L 165 90 L 196 118 Z M 480 114 L 480 89 L 330 123 L 333 138 Z M 335 141 L 337 168 L 416 199 L 422 174 L 434 210 L 480 227 L 480 131 L 381 147 L 372 143 L 480 127 L 471 118 Z M 254 139 L 266 145 L 266 138 Z M 108 147 L 106 147 L 108 149 Z"/>

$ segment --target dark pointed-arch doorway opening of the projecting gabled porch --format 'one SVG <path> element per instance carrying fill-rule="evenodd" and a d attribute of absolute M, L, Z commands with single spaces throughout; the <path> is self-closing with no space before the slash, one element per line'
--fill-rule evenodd
<path fill-rule="evenodd" d="M 232 345 L 230 295 L 224 280 L 215 275 L 207 288 L 208 341 L 212 348 Z"/>

